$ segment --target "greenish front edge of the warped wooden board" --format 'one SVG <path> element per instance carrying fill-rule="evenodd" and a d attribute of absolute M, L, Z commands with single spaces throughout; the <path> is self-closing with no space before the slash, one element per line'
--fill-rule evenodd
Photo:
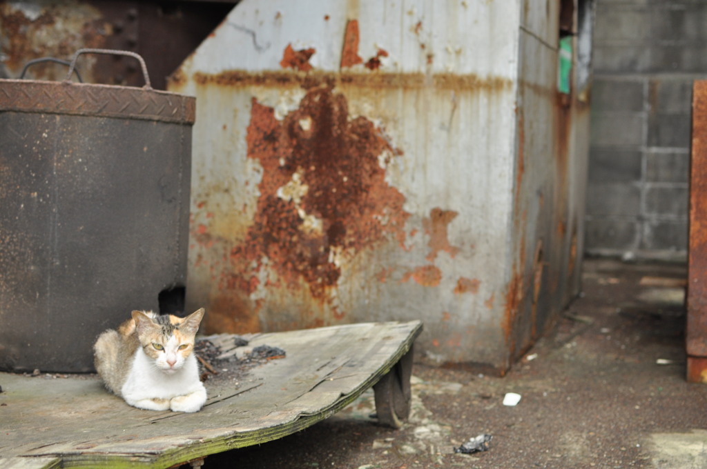
<path fill-rule="evenodd" d="M 155 453 L 83 452 L 62 453 L 50 456 L 61 458 L 63 465 L 58 467 L 62 468 L 167 469 L 175 465 L 186 464 L 194 459 L 205 458 L 211 454 L 267 443 L 268 441 L 300 432 L 343 410 L 347 405 L 361 396 L 361 394 L 369 388 L 372 388 L 374 384 L 378 383 L 382 376 L 385 376 L 385 374 L 395 367 L 395 364 L 410 350 L 415 339 L 422 332 L 422 321 L 408 321 L 407 323 L 400 324 L 409 325 L 411 330 L 407 338 L 400 343 L 396 352 L 386 360 L 385 364 L 383 364 L 375 374 L 372 374 L 366 379 L 366 381 L 363 381 L 354 391 L 351 391 L 351 393 L 345 396 L 341 396 L 341 398 L 334 401 L 334 403 L 314 414 L 300 414 L 290 422 L 274 427 L 254 430 L 245 434 L 233 433 L 211 439 L 195 440 L 193 444 L 188 444 L 187 446 L 167 449 L 165 451 L 156 451 Z"/>

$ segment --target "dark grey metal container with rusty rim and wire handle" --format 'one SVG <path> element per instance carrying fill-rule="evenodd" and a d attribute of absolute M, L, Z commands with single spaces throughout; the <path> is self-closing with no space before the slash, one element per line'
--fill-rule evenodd
<path fill-rule="evenodd" d="M 136 57 L 145 86 L 71 83 L 84 53 Z M 101 331 L 180 301 L 194 110 L 128 52 L 0 80 L 0 369 L 90 372 Z"/>

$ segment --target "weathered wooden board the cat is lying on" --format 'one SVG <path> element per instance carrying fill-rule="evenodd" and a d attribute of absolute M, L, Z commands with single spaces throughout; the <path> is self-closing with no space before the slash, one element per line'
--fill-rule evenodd
<path fill-rule="evenodd" d="M 421 328 L 419 321 L 361 323 L 252 336 L 251 346 L 282 348 L 286 358 L 251 369 L 239 382 L 206 381 L 209 400 L 194 414 L 129 407 L 94 376 L 0 374 L 0 458 L 60 458 L 64 468 L 168 468 L 281 438 L 376 384 Z M 233 336 L 210 339 L 225 346 Z"/>

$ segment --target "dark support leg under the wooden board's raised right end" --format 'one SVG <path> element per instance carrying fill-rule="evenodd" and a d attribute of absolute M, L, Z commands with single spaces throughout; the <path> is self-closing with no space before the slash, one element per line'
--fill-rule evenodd
<path fill-rule="evenodd" d="M 412 374 L 412 347 L 373 385 L 375 413 L 378 423 L 386 427 L 400 428 L 402 420 L 410 414 L 410 376 Z"/>

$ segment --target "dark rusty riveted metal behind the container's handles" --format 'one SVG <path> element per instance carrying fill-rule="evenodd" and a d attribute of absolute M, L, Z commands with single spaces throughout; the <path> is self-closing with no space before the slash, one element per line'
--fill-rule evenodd
<path fill-rule="evenodd" d="M 19 78 L 32 59 L 70 59 L 77 49 L 137 52 L 147 62 L 153 88 L 223 20 L 238 1 L 204 2 L 74 0 L 0 1 L 0 78 Z M 79 64 L 88 83 L 141 86 L 139 66 L 121 57 L 86 57 Z M 40 64 L 26 78 L 62 80 L 66 68 Z"/>

